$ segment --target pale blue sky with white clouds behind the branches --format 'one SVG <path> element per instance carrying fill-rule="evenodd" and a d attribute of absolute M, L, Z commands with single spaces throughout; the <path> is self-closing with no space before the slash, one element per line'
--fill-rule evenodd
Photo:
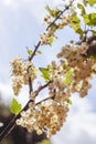
<path fill-rule="evenodd" d="M 45 16 L 45 4 L 52 8 L 62 7 L 62 0 L 0 0 L 0 94 L 6 103 L 13 96 L 11 89 L 10 62 L 17 56 L 26 58 L 26 47 L 30 49 L 39 41 L 40 33 L 45 27 L 42 25 Z M 70 32 L 68 32 L 70 31 Z M 35 65 L 44 66 L 61 47 L 72 38 L 77 39 L 73 30 L 57 32 L 58 39 L 53 47 L 42 47 L 44 56 L 35 56 Z M 73 105 L 70 107 L 67 121 L 55 136 L 53 144 L 96 144 L 96 78 L 90 81 L 93 88 L 88 95 L 79 99 L 73 95 Z M 28 88 L 23 89 L 18 100 L 25 104 Z M 23 97 L 23 99 L 22 99 Z"/>

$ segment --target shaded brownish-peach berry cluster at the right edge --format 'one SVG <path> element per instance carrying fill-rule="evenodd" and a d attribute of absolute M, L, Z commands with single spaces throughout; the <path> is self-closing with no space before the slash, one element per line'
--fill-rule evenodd
<path fill-rule="evenodd" d="M 86 58 L 87 49 L 86 43 L 65 45 L 57 54 L 57 58 L 64 59 L 64 62 L 73 70 L 72 83 L 68 86 L 71 93 L 78 92 L 82 97 L 87 95 L 87 91 L 92 86 L 89 80 L 96 65 L 95 60 Z"/>

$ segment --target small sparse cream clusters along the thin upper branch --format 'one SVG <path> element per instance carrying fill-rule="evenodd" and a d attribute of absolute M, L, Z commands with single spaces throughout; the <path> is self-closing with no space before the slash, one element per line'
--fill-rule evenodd
<path fill-rule="evenodd" d="M 68 25 L 74 14 L 76 13 L 72 12 L 67 16 L 62 16 L 54 23 L 52 22 L 54 21 L 54 19 L 51 19 L 50 14 L 45 16 L 43 23 L 47 24 L 49 29 L 46 29 L 45 33 L 40 34 L 41 44 L 51 44 L 53 42 L 53 38 L 55 37 L 55 31 L 58 29 L 63 29 L 65 25 Z"/>

